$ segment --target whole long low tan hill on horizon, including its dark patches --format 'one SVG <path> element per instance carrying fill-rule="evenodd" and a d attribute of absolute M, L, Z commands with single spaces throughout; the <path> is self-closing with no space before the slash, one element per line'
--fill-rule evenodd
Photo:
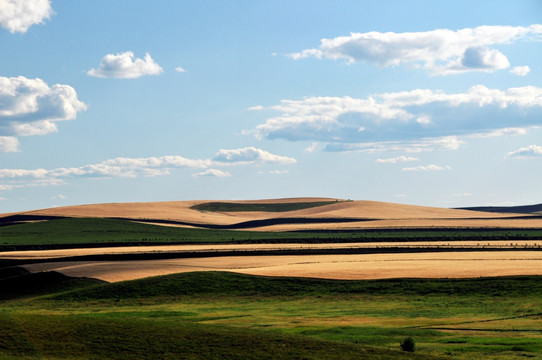
<path fill-rule="evenodd" d="M 479 208 L 480 210 L 485 208 Z M 531 208 L 536 210 L 536 207 Z M 211 229 L 294 231 L 427 227 L 542 227 L 538 214 L 475 211 L 378 201 L 287 198 L 169 201 L 66 206 L 0 216 L 0 224 L 58 217 L 132 220 Z"/>

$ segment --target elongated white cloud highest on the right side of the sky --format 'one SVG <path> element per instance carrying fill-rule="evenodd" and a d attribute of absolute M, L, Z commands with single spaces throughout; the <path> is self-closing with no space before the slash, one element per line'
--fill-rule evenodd
<path fill-rule="evenodd" d="M 542 25 L 479 26 L 461 30 L 425 32 L 351 33 L 322 39 L 318 48 L 290 54 L 293 59 L 315 57 L 367 62 L 379 66 L 413 64 L 434 75 L 486 71 L 510 67 L 508 58 L 493 45 L 511 44 L 521 38 L 539 38 Z"/>

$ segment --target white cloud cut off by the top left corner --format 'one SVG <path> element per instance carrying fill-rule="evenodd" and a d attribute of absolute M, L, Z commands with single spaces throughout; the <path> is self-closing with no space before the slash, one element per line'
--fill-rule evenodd
<path fill-rule="evenodd" d="M 9 32 L 25 33 L 53 15 L 49 0 L 0 0 L 0 26 Z"/>

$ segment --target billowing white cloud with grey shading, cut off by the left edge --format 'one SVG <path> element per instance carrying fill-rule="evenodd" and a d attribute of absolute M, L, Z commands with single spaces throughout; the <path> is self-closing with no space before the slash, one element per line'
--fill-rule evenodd
<path fill-rule="evenodd" d="M 69 85 L 0 77 L 0 151 L 17 151 L 17 136 L 56 132 L 58 121 L 73 120 L 86 109 Z"/>

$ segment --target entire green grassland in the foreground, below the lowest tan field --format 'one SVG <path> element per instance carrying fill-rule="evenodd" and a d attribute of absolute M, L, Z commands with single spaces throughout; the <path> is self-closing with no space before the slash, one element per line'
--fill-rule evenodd
<path fill-rule="evenodd" d="M 0 275 L 2 275 L 0 273 Z M 542 277 L 340 281 L 222 272 L 113 284 L 6 281 L 0 359 L 525 359 L 542 353 Z M 23 281 L 23 282 L 24 282 Z M 13 282 L 13 281 L 12 281 Z M 411 336 L 415 353 L 400 351 Z"/>

